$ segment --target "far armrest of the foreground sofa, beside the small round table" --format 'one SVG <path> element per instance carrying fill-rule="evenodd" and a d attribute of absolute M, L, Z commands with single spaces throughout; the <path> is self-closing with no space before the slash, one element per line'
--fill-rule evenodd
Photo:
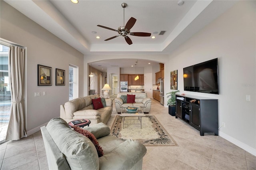
<path fill-rule="evenodd" d="M 96 137 L 96 139 L 110 134 L 110 128 L 104 123 L 98 123 L 90 127 L 84 127 L 83 129 L 91 132 Z"/>

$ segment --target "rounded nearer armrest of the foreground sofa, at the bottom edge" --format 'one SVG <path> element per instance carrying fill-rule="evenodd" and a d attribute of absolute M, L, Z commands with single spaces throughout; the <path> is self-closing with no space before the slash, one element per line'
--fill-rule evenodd
<path fill-rule="evenodd" d="M 99 158 L 101 170 L 131 169 L 146 154 L 146 147 L 140 142 L 126 140 L 112 152 Z"/>

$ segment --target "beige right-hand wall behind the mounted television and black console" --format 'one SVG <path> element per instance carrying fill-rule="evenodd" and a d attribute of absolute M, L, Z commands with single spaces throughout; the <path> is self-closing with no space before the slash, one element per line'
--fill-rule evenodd
<path fill-rule="evenodd" d="M 180 93 L 218 99 L 219 135 L 256 155 L 256 1 L 241 1 L 171 55 Z M 218 58 L 219 95 L 184 91 L 183 68 Z M 166 76 L 165 76 L 166 77 Z M 166 83 L 168 81 L 165 81 Z M 168 84 L 165 83 L 165 87 Z M 251 101 L 246 101 L 250 95 Z"/>

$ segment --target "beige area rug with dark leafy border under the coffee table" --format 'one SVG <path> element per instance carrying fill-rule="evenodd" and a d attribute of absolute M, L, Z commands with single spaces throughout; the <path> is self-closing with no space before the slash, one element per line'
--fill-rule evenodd
<path fill-rule="evenodd" d="M 126 123 L 131 125 L 124 125 L 123 128 L 123 117 L 117 115 L 110 133 L 122 140 L 137 140 L 145 146 L 178 146 L 154 115 L 142 117 L 142 128 L 133 125 L 140 123 L 137 117 L 126 117 Z"/>

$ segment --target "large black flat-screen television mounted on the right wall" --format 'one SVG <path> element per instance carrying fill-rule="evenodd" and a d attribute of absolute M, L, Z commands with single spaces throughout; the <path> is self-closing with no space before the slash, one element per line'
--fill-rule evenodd
<path fill-rule="evenodd" d="M 218 58 L 183 68 L 184 91 L 219 94 Z"/>

